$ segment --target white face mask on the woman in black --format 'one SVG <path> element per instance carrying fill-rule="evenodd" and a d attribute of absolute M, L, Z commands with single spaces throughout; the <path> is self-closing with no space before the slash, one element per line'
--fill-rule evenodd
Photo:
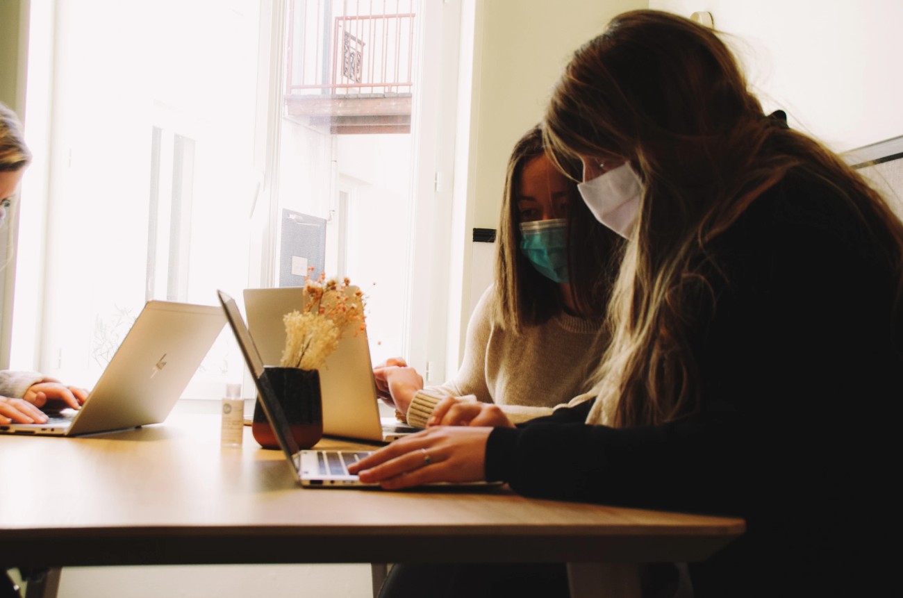
<path fill-rule="evenodd" d="M 602 224 L 623 238 L 629 238 L 637 221 L 643 183 L 625 163 L 591 181 L 577 185 L 583 202 Z"/>

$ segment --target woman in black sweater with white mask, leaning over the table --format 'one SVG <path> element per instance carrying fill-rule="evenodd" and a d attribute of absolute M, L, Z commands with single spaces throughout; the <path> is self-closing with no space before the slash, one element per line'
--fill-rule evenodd
<path fill-rule="evenodd" d="M 740 540 L 690 565 L 696 596 L 887 587 L 903 225 L 886 202 L 767 117 L 715 33 L 673 14 L 619 15 L 578 50 L 545 136 L 630 239 L 598 397 L 519 428 L 484 411 L 427 430 L 361 479 L 743 517 Z"/>

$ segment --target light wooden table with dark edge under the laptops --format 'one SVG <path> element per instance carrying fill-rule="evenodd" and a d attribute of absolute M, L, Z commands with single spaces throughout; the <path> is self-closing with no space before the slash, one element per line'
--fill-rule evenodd
<path fill-rule="evenodd" d="M 635 564 L 703 560 L 744 529 L 506 488 L 306 490 L 245 434 L 220 448 L 219 416 L 173 415 L 90 438 L 0 436 L 0 563 L 567 562 L 595 564 L 572 566 L 575 594 L 626 596 L 638 595 Z"/>

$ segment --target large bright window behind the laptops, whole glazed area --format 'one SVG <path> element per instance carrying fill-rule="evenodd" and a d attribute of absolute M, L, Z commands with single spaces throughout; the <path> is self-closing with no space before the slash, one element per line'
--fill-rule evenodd
<path fill-rule="evenodd" d="M 442 280 L 418 275 L 412 256 L 442 256 L 434 239 L 447 236 L 413 224 L 420 206 L 435 210 L 413 190 L 434 177 L 430 160 L 418 170 L 431 154 L 418 135 L 435 138 L 439 125 L 437 111 L 417 111 L 417 73 L 431 40 L 424 23 L 437 22 L 424 14 L 436 7 L 52 6 L 55 14 L 32 18 L 33 28 L 54 28 L 32 33 L 33 55 L 36 42 L 54 40 L 52 77 L 28 86 L 30 97 L 51 98 L 48 145 L 33 148 L 47 156 L 46 231 L 20 230 L 46 235 L 43 256 L 22 257 L 44 276 L 17 285 L 13 367 L 90 387 L 145 301 L 215 304 L 218 288 L 240 297 L 246 287 L 296 285 L 309 267 L 349 276 L 368 295 L 374 360 L 410 354 L 423 320 L 411 305 Z M 451 121 L 443 126 L 453 131 Z M 23 211 L 39 210 L 28 184 Z M 44 303 L 20 311 L 29 296 Z M 441 321 L 436 306 L 429 318 Z M 220 397 L 242 370 L 224 331 L 184 397 Z"/>

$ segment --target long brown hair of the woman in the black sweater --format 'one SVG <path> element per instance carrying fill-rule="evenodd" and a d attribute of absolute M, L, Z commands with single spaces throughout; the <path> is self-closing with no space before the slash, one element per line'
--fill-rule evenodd
<path fill-rule="evenodd" d="M 559 160 L 622 156 L 645 186 L 610 302 L 601 421 L 657 424 L 699 407 L 686 316 L 711 290 L 700 271 L 707 244 L 790 169 L 848 201 L 901 273 L 903 225 L 887 203 L 824 146 L 766 117 L 731 51 L 680 16 L 621 14 L 576 51 L 545 143 Z"/>

